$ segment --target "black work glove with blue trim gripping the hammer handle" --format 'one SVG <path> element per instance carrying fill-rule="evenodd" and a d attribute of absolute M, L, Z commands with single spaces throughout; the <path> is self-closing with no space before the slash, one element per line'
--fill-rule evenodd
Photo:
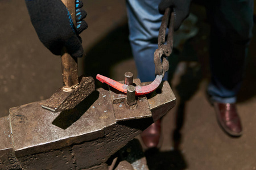
<path fill-rule="evenodd" d="M 86 12 L 81 9 L 81 1 L 76 0 L 76 28 L 67 7 L 61 0 L 25 1 L 31 22 L 44 46 L 55 55 L 60 55 L 61 49 L 65 46 L 72 57 L 82 57 L 84 50 L 79 34 L 88 25 L 82 20 Z"/>

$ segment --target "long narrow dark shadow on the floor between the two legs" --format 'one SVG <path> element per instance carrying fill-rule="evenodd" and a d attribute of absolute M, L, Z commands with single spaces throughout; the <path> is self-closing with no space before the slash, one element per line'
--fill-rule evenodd
<path fill-rule="evenodd" d="M 188 40 L 184 44 L 184 50 L 180 54 L 178 52 L 173 54 L 172 60 L 172 67 L 176 68 L 174 63 L 183 62 L 182 69 L 172 69 L 170 71 L 170 77 L 172 78 L 174 74 L 179 74 L 179 83 L 175 86 L 176 95 L 179 96 L 179 102 L 176 105 L 177 111 L 175 113 L 175 129 L 172 133 L 172 141 L 173 147 L 175 150 L 179 150 L 179 146 L 181 144 L 181 129 L 183 128 L 184 121 L 185 121 L 185 108 L 186 103 L 193 95 L 195 95 L 196 91 L 199 88 L 199 84 L 202 80 L 202 70 L 200 63 L 198 62 L 197 54 L 195 50 L 193 50 L 192 45 Z M 177 59 L 178 58 L 178 59 Z M 176 73 L 175 73 L 175 72 Z"/>

